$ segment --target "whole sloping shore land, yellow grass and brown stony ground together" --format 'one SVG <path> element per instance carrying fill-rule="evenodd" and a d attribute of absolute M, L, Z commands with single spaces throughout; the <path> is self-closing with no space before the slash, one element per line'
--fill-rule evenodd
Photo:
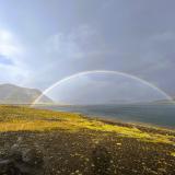
<path fill-rule="evenodd" d="M 0 142 L 0 160 L 23 174 L 175 174 L 175 131 L 163 128 L 3 105 Z"/>

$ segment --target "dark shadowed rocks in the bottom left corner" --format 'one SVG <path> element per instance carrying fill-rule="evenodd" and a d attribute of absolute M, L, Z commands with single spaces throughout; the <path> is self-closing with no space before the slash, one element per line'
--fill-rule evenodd
<path fill-rule="evenodd" d="M 42 175 L 43 165 L 40 151 L 15 143 L 9 156 L 0 159 L 0 175 Z"/>

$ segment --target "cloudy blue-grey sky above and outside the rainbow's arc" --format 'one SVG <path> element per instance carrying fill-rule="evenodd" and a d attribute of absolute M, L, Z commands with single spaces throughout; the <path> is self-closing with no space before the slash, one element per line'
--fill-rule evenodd
<path fill-rule="evenodd" d="M 81 71 L 113 70 L 175 96 L 174 7 L 174 0 L 0 0 L 0 83 L 44 91 Z"/>

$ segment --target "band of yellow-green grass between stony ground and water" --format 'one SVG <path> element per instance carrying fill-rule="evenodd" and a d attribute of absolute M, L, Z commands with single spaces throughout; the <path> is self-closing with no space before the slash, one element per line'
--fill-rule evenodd
<path fill-rule="evenodd" d="M 61 129 L 79 131 L 81 129 L 119 133 L 150 142 L 174 144 L 175 137 L 141 131 L 136 127 L 122 127 L 88 119 L 79 114 L 34 109 L 30 107 L 0 106 L 0 131 L 45 131 Z"/>

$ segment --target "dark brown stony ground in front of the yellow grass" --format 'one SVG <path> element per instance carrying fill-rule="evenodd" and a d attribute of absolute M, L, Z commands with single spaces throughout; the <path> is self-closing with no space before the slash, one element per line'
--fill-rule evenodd
<path fill-rule="evenodd" d="M 113 132 L 1 132 L 0 175 L 175 175 L 172 152 Z"/>

